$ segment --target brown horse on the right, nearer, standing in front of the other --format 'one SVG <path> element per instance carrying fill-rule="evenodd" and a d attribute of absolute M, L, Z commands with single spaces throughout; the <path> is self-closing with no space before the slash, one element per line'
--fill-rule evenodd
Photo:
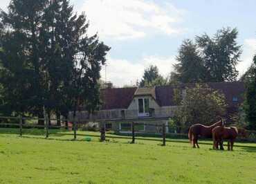
<path fill-rule="evenodd" d="M 238 135 L 237 127 L 224 127 L 218 126 L 212 129 L 212 140 L 213 140 L 213 149 L 220 149 L 223 150 L 223 140 L 228 140 L 228 150 L 233 150 L 233 145 L 235 139 Z"/>

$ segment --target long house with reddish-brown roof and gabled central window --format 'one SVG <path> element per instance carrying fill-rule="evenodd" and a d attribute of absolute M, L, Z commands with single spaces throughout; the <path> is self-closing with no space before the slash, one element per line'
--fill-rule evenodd
<path fill-rule="evenodd" d="M 185 95 L 185 88 L 195 84 L 179 86 L 156 86 L 152 88 L 118 88 L 102 89 L 102 107 L 90 116 L 90 120 L 103 123 L 107 129 L 114 131 L 131 131 L 131 122 L 135 122 L 136 131 L 161 132 L 168 119 L 174 116 L 177 106 L 174 102 L 174 90 L 180 89 Z M 221 91 L 226 97 L 228 114 L 235 113 L 243 102 L 245 91 L 243 82 L 212 82 L 210 88 Z M 80 118 L 88 117 L 86 111 L 79 113 Z M 169 130 L 166 129 L 168 132 Z"/>

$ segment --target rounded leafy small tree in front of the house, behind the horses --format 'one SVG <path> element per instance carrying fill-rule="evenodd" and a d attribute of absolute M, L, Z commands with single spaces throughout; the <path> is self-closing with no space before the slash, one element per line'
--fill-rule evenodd
<path fill-rule="evenodd" d="M 184 127 L 196 123 L 209 125 L 226 114 L 226 106 L 223 93 L 210 89 L 207 85 L 196 84 L 193 88 L 185 89 L 175 118 Z"/>

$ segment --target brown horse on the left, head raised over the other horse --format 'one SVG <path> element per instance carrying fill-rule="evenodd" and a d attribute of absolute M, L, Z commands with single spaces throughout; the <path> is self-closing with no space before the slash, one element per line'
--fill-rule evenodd
<path fill-rule="evenodd" d="M 193 145 L 193 147 L 197 146 L 199 148 L 199 145 L 198 145 L 199 136 L 204 138 L 212 138 L 212 129 L 222 124 L 223 124 L 223 120 L 221 119 L 210 126 L 205 126 L 201 124 L 192 125 L 190 127 L 190 130 L 188 131 L 188 138 L 190 139 L 190 143 Z"/>

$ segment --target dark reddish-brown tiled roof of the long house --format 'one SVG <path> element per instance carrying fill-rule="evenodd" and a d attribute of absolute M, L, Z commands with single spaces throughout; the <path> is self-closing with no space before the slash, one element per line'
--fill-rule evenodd
<path fill-rule="evenodd" d="M 226 96 L 226 102 L 229 107 L 234 107 L 243 101 L 245 91 L 243 82 L 211 82 L 207 83 L 212 89 L 221 91 Z M 102 89 L 102 110 L 103 109 L 127 109 L 136 95 L 152 95 L 156 102 L 161 106 L 174 105 L 174 89 L 185 89 L 193 87 L 195 84 L 181 84 L 179 86 L 156 86 L 149 89 L 120 88 L 120 89 Z M 237 102 L 232 102 L 233 98 Z"/>

